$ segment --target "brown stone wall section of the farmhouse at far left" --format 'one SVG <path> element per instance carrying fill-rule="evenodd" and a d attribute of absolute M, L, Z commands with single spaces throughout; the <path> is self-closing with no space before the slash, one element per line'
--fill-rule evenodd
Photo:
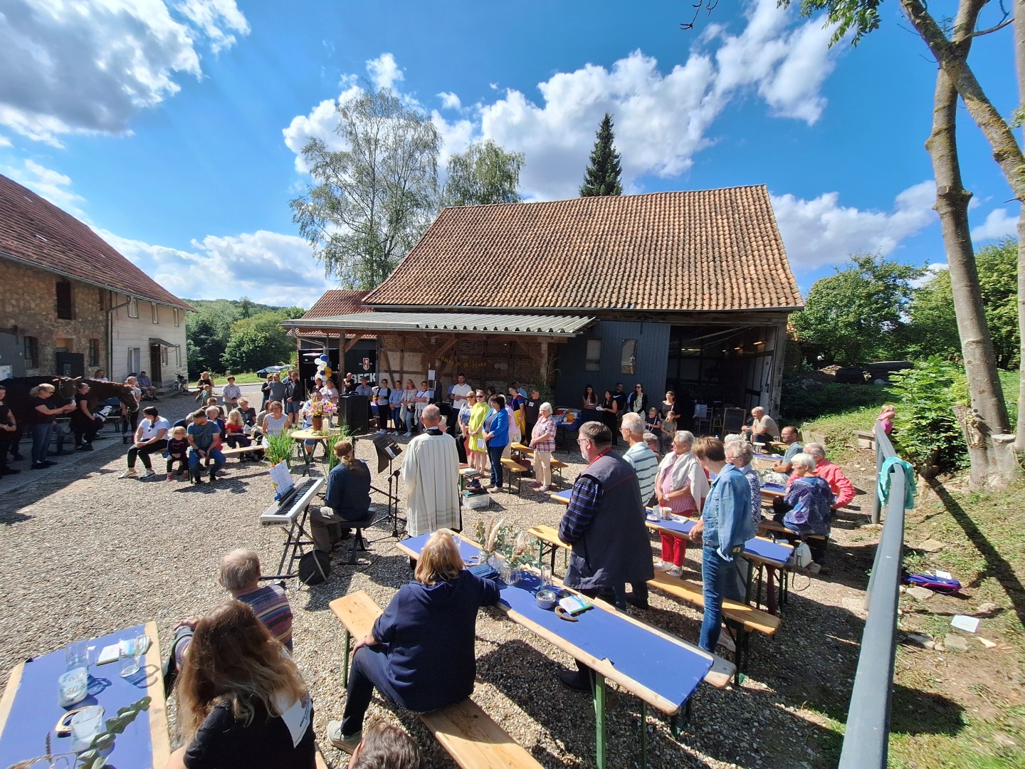
<path fill-rule="evenodd" d="M 57 318 L 56 284 L 61 276 L 36 270 L 8 259 L 0 259 L 0 329 L 13 333 L 18 340 L 19 360 L 15 376 L 45 376 L 56 371 L 56 352 L 85 356 L 88 371 L 89 340 L 99 345 L 99 366 L 106 368 L 107 318 L 100 307 L 107 290 L 77 280 L 71 283 L 72 319 Z M 38 366 L 25 360 L 25 337 L 38 339 Z M 6 361 L 5 361 L 6 362 Z M 22 370 L 17 370 L 24 366 Z"/>

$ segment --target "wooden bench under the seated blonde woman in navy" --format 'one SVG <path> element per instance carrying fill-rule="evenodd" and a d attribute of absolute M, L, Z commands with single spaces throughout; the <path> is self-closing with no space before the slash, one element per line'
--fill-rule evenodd
<path fill-rule="evenodd" d="M 330 603 L 345 628 L 342 684 L 348 686 L 348 657 L 353 637 L 363 638 L 383 610 L 363 591 Z M 481 706 L 468 697 L 448 707 L 417 714 L 442 747 L 462 769 L 541 769 L 530 753 L 518 744 Z"/>

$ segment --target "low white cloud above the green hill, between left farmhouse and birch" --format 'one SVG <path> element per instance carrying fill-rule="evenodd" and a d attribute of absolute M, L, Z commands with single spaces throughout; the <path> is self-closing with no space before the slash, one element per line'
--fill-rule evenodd
<path fill-rule="evenodd" d="M 189 250 L 96 233 L 176 296 L 248 296 L 268 305 L 309 308 L 336 284 L 324 278 L 310 244 L 294 235 L 255 233 L 193 240 Z"/>

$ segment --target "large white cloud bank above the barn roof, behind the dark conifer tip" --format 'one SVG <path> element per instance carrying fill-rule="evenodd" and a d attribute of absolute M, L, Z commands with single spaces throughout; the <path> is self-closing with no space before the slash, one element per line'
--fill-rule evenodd
<path fill-rule="evenodd" d="M 490 100 L 467 107 L 458 94 L 442 91 L 441 109 L 459 110 L 452 121 L 439 111 L 430 113 L 445 143 L 442 166 L 470 141 L 492 138 L 525 154 L 520 184 L 528 199 L 573 197 L 594 131 L 608 112 L 623 157 L 623 186 L 641 192 L 643 176 L 686 172 L 694 155 L 715 141 L 712 126 L 723 111 L 747 93 L 757 94 L 775 116 L 814 123 L 825 107 L 821 86 L 839 51 L 828 46 L 831 29 L 822 29 L 821 17 L 801 19 L 777 8 L 776 0 L 752 0 L 746 7 L 742 30 L 733 34 L 711 26 L 695 40 L 686 62 L 667 73 L 636 50 L 608 69 L 588 64 L 552 75 L 538 83 L 539 100 L 492 84 L 498 92 Z M 394 83 L 393 73 L 402 74 L 389 53 L 367 64 L 375 82 Z M 353 87 L 352 78 L 345 82 Z M 404 99 L 417 106 L 410 96 Z M 336 123 L 333 115 L 321 119 L 323 107 L 293 119 L 285 130 L 286 144 L 296 154 L 310 136 L 330 137 Z M 300 161 L 296 167 L 305 170 Z"/>

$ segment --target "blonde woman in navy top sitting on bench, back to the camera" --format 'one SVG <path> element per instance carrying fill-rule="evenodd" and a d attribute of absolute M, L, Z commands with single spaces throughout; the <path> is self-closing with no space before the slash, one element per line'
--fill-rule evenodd
<path fill-rule="evenodd" d="M 346 753 L 360 743 L 375 687 L 415 713 L 445 707 L 474 691 L 477 610 L 498 603 L 498 586 L 463 568 L 444 529 L 423 545 L 414 578 L 354 647 L 345 712 L 328 724 L 331 744 Z"/>

